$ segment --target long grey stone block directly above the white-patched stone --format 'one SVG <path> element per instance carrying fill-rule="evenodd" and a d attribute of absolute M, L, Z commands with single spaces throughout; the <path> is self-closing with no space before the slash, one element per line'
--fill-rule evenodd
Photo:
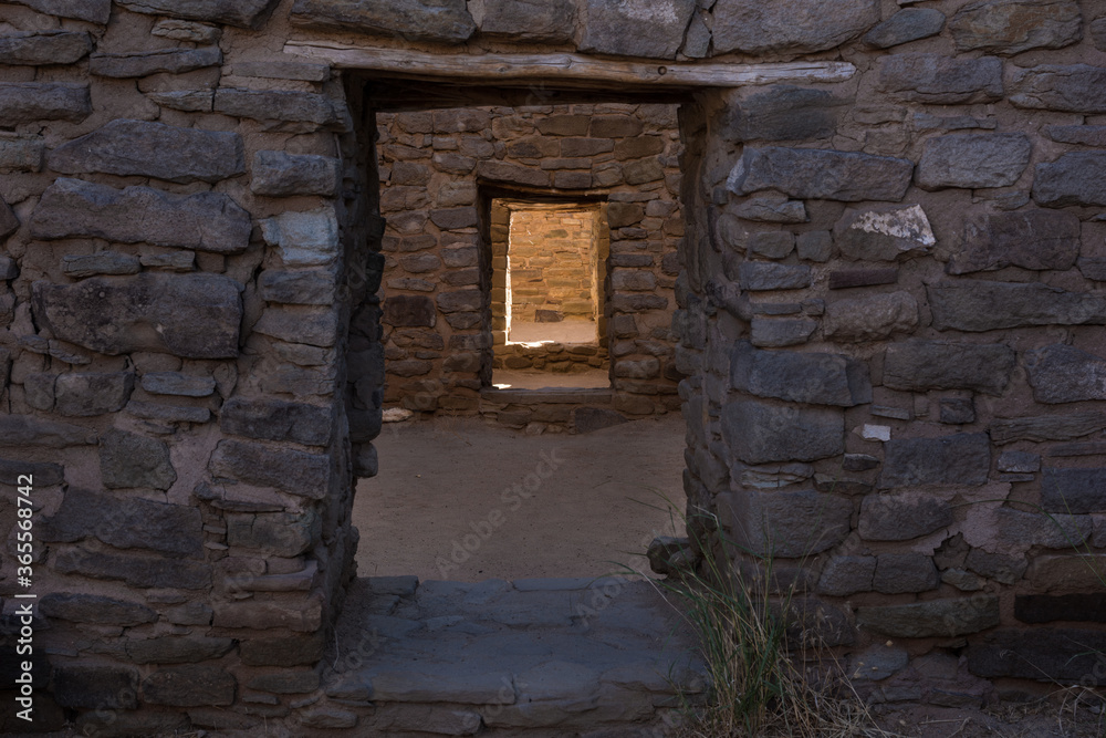
<path fill-rule="evenodd" d="M 802 199 L 898 201 L 914 163 L 888 156 L 821 148 L 747 146 L 727 188 L 735 195 L 776 189 Z"/>

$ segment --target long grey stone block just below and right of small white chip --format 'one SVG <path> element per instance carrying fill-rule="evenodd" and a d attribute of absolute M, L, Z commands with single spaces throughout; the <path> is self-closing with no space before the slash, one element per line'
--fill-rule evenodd
<path fill-rule="evenodd" d="M 938 438 L 895 438 L 884 444 L 879 487 L 987 484 L 991 444 L 985 433 L 958 433 Z"/>

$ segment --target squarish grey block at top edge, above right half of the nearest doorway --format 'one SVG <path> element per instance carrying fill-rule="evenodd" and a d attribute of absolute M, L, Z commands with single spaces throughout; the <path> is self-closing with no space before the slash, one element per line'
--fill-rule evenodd
<path fill-rule="evenodd" d="M 675 59 L 695 0 L 583 0 L 580 50 L 618 56 Z"/>

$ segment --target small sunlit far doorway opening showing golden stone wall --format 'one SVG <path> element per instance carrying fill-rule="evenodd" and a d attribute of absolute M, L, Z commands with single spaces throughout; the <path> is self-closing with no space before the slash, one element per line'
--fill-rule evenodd
<path fill-rule="evenodd" d="M 491 205 L 492 384 L 608 387 L 604 202 Z"/>

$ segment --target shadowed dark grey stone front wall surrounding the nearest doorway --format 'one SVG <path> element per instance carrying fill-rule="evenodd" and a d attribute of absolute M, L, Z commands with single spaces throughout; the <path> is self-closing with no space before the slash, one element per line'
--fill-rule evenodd
<path fill-rule="evenodd" d="M 681 112 L 696 528 L 772 552 L 876 699 L 1102 684 L 1106 8 L 432 4 L 0 7 L 0 597 L 31 474 L 38 726 L 366 714 L 319 685 L 383 402 L 372 101 L 292 37 L 853 63 Z"/>

